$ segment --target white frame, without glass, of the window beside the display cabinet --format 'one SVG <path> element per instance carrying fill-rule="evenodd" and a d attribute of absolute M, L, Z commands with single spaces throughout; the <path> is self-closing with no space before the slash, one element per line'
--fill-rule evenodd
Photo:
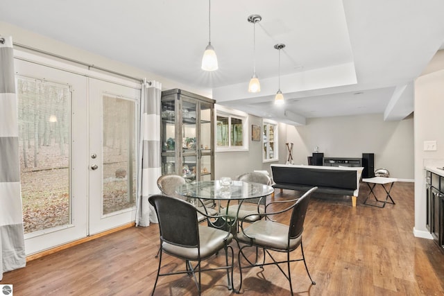
<path fill-rule="evenodd" d="M 221 105 L 214 105 L 214 147 L 216 147 L 216 152 L 230 152 L 230 151 L 248 151 L 249 141 L 248 141 L 248 114 L 241 112 L 239 110 L 233 110 L 228 107 L 223 107 Z M 228 146 L 218 146 L 218 130 L 217 130 L 217 116 L 228 117 Z M 242 146 L 232 146 L 231 145 L 231 119 L 240 119 L 242 121 Z"/>

